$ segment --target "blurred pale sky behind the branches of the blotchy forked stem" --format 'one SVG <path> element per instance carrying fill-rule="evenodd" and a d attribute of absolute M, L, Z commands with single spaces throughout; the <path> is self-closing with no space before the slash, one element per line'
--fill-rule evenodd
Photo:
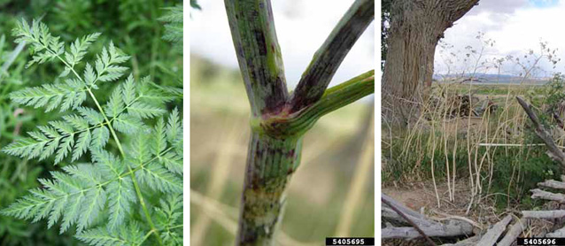
<path fill-rule="evenodd" d="M 378 0 L 376 0 L 378 1 Z M 275 28 L 286 73 L 294 88 L 300 76 L 353 0 L 273 0 Z M 202 11 L 191 10 L 190 53 L 237 69 L 228 17 L 221 0 L 198 0 Z M 373 22 L 337 70 L 331 85 L 375 69 L 375 23 Z"/>

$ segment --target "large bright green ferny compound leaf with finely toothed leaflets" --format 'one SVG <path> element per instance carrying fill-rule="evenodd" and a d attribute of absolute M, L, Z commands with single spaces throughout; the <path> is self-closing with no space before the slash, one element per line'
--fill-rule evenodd
<path fill-rule="evenodd" d="M 47 227 L 58 225 L 61 233 L 74 228 L 76 238 L 89 245 L 181 245 L 179 111 L 166 111 L 170 100 L 147 86 L 148 79 L 135 81 L 130 74 L 120 81 L 128 70 L 120 64 L 128 56 L 112 42 L 95 61 L 83 61 L 100 34 L 66 46 L 43 23 L 28 25 L 25 20 L 13 34 L 16 42 L 28 42 L 35 53 L 28 65 L 52 61 L 66 68 L 60 74 L 64 82 L 13 92 L 12 101 L 66 115 L 3 151 L 70 165 L 51 172 L 51 179 L 40 179 L 40 188 L 0 212 L 34 222 L 46 219 Z M 75 65 L 81 63 L 84 69 L 77 71 Z M 100 83 L 114 87 L 105 104 L 96 97 L 104 93 L 98 91 Z"/>

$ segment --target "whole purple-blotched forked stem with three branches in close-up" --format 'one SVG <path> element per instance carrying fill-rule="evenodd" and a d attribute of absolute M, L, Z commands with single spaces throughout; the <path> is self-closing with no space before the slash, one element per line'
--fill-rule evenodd
<path fill-rule="evenodd" d="M 269 245 L 284 193 L 300 163 L 302 138 L 321 116 L 375 92 L 375 70 L 328 88 L 347 52 L 375 19 L 374 0 L 356 0 L 314 54 L 294 92 L 269 0 L 226 0 L 231 35 L 252 108 L 238 245 Z"/>

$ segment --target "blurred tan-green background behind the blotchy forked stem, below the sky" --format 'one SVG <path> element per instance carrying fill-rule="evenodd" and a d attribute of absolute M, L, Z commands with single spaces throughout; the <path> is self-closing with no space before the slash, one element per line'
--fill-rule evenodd
<path fill-rule="evenodd" d="M 371 100 L 348 105 L 306 134 L 278 245 L 374 236 L 373 109 Z M 249 135 L 240 73 L 191 55 L 190 245 L 233 245 Z"/>

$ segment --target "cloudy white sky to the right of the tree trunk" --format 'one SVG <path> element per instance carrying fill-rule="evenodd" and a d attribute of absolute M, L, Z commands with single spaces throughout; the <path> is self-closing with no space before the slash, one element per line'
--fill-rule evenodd
<path fill-rule="evenodd" d="M 524 58 L 529 50 L 534 55 L 540 54 L 540 42 L 547 42 L 547 48 L 557 49 L 557 58 L 565 58 L 565 1 L 561 0 L 480 0 L 463 18 L 445 31 L 443 42 L 453 45 L 450 49 L 438 47 L 436 52 L 436 73 L 447 71 L 446 61 L 452 60 L 452 71 L 470 69 L 468 61 L 464 61 L 468 51 L 467 46 L 475 50 L 481 49 L 481 42 L 476 36 L 484 33 L 484 40 L 495 41 L 492 47 L 484 49 L 484 59 L 503 58 L 511 55 L 522 58 L 521 62 L 532 63 L 532 58 Z M 450 53 L 457 54 L 453 58 Z M 473 60 L 473 57 L 468 60 Z M 525 60 L 525 61 L 524 61 Z M 546 59 L 539 63 L 537 76 L 550 76 L 554 72 L 565 72 L 565 59 L 555 65 Z M 521 73 L 519 65 L 507 62 L 501 73 Z M 482 71 L 481 73 L 484 73 Z M 487 73 L 496 73 L 494 70 Z"/>

